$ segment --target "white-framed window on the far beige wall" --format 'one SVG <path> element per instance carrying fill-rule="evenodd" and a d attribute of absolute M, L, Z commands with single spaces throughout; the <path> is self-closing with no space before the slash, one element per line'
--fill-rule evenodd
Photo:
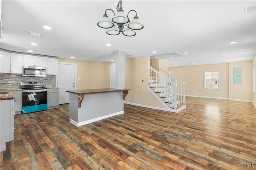
<path fill-rule="evenodd" d="M 204 89 L 220 89 L 220 70 L 204 70 Z"/>

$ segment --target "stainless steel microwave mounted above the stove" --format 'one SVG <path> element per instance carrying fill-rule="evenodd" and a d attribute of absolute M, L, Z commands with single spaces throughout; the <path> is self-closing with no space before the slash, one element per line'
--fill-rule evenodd
<path fill-rule="evenodd" d="M 22 76 L 46 77 L 45 67 L 22 66 Z"/>

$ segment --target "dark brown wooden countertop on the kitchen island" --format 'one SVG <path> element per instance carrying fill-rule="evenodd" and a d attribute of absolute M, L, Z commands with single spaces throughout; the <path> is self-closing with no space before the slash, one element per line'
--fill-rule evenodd
<path fill-rule="evenodd" d="M 118 91 L 128 91 L 131 89 L 115 89 L 115 88 L 98 88 L 98 89 L 85 89 L 85 90 L 66 90 L 66 92 L 74 94 L 94 94 L 94 93 L 106 93 L 106 92 L 118 92 Z"/>

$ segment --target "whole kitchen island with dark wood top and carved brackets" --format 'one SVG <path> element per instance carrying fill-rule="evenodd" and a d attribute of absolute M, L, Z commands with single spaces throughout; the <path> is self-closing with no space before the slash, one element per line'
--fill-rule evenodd
<path fill-rule="evenodd" d="M 78 126 L 124 113 L 125 96 L 130 89 L 67 90 L 70 93 L 70 123 Z"/>

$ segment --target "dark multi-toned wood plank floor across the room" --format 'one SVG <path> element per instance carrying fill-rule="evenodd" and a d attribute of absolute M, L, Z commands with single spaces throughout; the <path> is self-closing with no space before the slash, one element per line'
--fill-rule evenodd
<path fill-rule="evenodd" d="M 186 98 L 170 113 L 124 105 L 124 114 L 75 127 L 68 104 L 15 116 L 1 170 L 255 169 L 252 103 Z"/>

